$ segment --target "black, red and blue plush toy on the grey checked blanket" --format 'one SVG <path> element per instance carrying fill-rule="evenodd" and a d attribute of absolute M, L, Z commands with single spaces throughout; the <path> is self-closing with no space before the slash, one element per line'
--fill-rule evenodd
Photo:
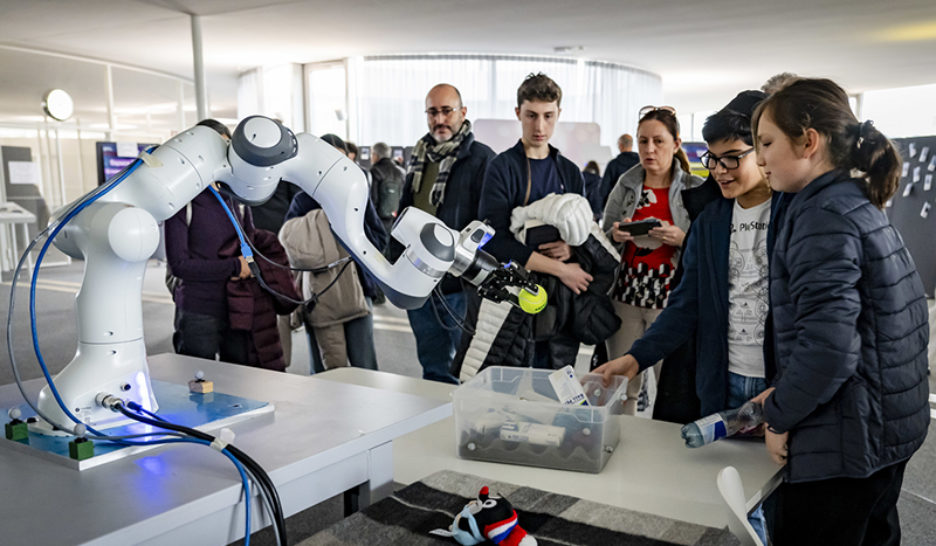
<path fill-rule="evenodd" d="M 481 488 L 477 499 L 462 508 L 448 529 L 435 529 L 430 534 L 454 538 L 464 546 L 485 540 L 499 546 L 536 546 L 536 539 L 517 522 L 513 506 L 507 499 L 491 495 L 487 486 Z"/>

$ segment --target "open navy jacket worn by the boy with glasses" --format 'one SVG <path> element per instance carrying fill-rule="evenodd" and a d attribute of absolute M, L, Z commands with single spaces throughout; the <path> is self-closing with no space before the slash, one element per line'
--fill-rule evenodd
<path fill-rule="evenodd" d="M 692 223 L 682 257 L 682 280 L 670 293 L 666 308 L 629 351 L 641 369 L 647 368 L 695 334 L 695 384 L 702 415 L 728 407 L 728 255 L 734 203 L 734 199 L 718 199 Z M 768 257 L 783 203 L 783 194 L 774 194 L 767 230 Z M 775 372 L 772 356 L 769 343 L 765 343 L 768 382 Z"/>

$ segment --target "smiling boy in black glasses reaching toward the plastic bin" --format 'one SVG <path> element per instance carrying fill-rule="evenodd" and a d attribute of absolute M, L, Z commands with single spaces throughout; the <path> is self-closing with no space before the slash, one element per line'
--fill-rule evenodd
<path fill-rule="evenodd" d="M 682 279 L 666 309 L 626 355 L 595 370 L 607 379 L 633 377 L 695 334 L 691 354 L 668 359 L 666 366 L 667 373 L 678 365 L 687 368 L 679 372 L 692 374 L 699 416 L 740 407 L 767 388 L 775 369 L 765 344 L 768 256 L 784 199 L 771 192 L 754 150 L 751 115 L 764 98 L 760 91 L 744 91 L 705 121 L 709 149 L 702 163 L 722 198 L 692 223 Z M 749 519 L 766 544 L 761 511 Z"/>

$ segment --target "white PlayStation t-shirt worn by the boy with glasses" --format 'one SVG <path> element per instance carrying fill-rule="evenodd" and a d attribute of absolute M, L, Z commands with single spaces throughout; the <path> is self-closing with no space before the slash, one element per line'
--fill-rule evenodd
<path fill-rule="evenodd" d="M 751 208 L 735 201 L 728 251 L 728 371 L 764 377 L 768 311 L 767 228 L 770 199 Z"/>

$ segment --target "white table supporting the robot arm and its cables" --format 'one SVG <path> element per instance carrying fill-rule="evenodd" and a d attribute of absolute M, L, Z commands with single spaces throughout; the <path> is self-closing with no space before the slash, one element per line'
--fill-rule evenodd
<path fill-rule="evenodd" d="M 362 484 L 362 504 L 388 494 L 392 440 L 451 413 L 436 399 L 315 377 L 173 354 L 149 361 L 154 379 L 184 383 L 201 369 L 215 391 L 275 404 L 231 428 L 234 445 L 276 484 L 286 516 Z M 42 386 L 27 384 L 33 396 Z M 21 403 L 15 385 L 0 387 L 0 408 Z M 0 448 L 0 469 L 3 544 L 182 546 L 243 536 L 237 471 L 203 446 L 164 446 L 83 472 Z M 256 497 L 252 508 L 252 528 L 268 525 Z"/>

